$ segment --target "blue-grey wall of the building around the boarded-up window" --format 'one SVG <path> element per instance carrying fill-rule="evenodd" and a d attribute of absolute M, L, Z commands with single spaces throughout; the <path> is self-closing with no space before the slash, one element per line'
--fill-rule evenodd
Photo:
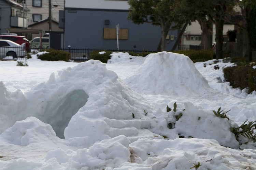
<path fill-rule="evenodd" d="M 133 24 L 127 20 L 128 10 L 65 9 L 65 48 L 70 45 L 71 48 L 117 49 L 116 39 L 103 39 L 103 28 L 116 28 L 117 24 L 128 29 L 128 40 L 119 40 L 119 49 L 156 50 L 159 44 L 160 27 Z M 110 24 L 105 25 L 104 20 L 110 20 Z M 170 31 L 169 35 L 174 35 L 174 40 L 166 44 L 167 50 L 173 47 L 177 31 Z"/>

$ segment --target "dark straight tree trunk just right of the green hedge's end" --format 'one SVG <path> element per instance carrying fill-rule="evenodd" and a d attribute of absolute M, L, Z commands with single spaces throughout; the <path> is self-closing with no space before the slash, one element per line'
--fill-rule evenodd
<path fill-rule="evenodd" d="M 216 26 L 216 59 L 223 58 L 223 26 L 224 26 L 224 20 L 216 19 L 215 20 L 215 26 Z"/>

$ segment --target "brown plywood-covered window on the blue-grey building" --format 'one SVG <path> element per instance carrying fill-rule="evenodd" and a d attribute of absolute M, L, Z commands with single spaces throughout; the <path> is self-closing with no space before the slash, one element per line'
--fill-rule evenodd
<path fill-rule="evenodd" d="M 116 39 L 116 28 L 104 28 L 103 39 Z M 128 29 L 120 28 L 118 39 L 128 39 Z"/>

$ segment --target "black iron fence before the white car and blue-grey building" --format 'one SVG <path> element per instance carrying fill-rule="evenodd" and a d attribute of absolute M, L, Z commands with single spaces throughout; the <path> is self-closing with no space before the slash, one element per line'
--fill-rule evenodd
<path fill-rule="evenodd" d="M 117 50 L 117 49 L 75 49 L 75 48 L 65 48 L 65 49 L 57 49 L 57 50 L 63 50 L 70 53 L 71 60 L 75 62 L 85 62 L 88 61 L 90 58 L 90 54 L 93 51 L 104 51 L 109 50 L 113 52 L 133 52 L 133 53 L 142 53 L 147 52 L 149 50 Z M 40 48 L 31 48 L 29 51 L 23 47 L 0 47 L 0 58 L 2 59 L 17 59 L 17 60 L 25 60 L 27 59 L 27 55 L 30 54 L 37 54 L 40 51 L 45 51 L 44 49 Z M 152 52 L 155 52 L 151 50 Z M 150 51 L 150 52 L 151 52 Z"/>

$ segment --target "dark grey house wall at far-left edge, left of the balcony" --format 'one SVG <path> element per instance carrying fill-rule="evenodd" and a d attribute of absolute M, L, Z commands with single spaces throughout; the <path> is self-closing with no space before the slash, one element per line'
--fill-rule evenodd
<path fill-rule="evenodd" d="M 0 33 L 7 33 L 4 28 L 10 28 L 11 5 L 6 1 L 0 0 Z"/>

